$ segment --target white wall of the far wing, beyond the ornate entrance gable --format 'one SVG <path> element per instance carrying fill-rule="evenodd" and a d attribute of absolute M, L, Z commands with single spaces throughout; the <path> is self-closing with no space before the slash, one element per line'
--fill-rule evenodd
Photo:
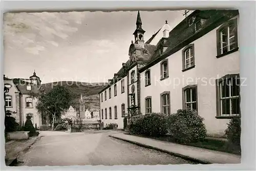
<path fill-rule="evenodd" d="M 111 99 L 109 99 L 109 88 L 106 89 L 106 101 L 103 93 L 103 102 L 100 99 L 100 118 L 104 123 L 104 127 L 110 123 L 116 123 L 119 129 L 123 128 L 123 117 L 121 113 L 121 105 L 125 104 L 125 113 L 127 113 L 127 77 L 124 77 L 124 92 L 121 93 L 121 80 L 116 83 L 117 85 L 117 95 L 114 96 L 114 85 L 111 86 Z M 100 97 L 101 98 L 101 97 Z M 115 106 L 117 106 L 117 119 L 115 119 Z M 109 108 L 112 108 L 112 119 L 109 117 Z M 105 119 L 105 108 L 108 112 L 108 118 Z M 103 119 L 101 114 L 101 109 L 103 109 Z"/>

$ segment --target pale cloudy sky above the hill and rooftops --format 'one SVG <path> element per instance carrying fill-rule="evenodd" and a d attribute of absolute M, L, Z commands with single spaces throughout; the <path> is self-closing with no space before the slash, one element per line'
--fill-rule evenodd
<path fill-rule="evenodd" d="M 107 82 L 129 59 L 137 11 L 6 13 L 4 74 L 42 83 Z M 145 41 L 184 11 L 140 11 Z M 190 12 L 188 13 L 190 14 Z"/>

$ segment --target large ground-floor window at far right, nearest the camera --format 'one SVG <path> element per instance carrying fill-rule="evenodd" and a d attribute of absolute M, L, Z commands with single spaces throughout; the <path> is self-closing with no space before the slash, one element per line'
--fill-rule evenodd
<path fill-rule="evenodd" d="M 238 78 L 228 78 L 220 82 L 220 115 L 239 116 L 240 115 L 240 80 Z"/>

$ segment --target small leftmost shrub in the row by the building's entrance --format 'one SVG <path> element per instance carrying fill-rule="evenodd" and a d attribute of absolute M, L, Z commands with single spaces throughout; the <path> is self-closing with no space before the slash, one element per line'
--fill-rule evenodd
<path fill-rule="evenodd" d="M 130 134 L 143 134 L 143 118 L 144 115 L 133 116 L 128 124 Z"/>

